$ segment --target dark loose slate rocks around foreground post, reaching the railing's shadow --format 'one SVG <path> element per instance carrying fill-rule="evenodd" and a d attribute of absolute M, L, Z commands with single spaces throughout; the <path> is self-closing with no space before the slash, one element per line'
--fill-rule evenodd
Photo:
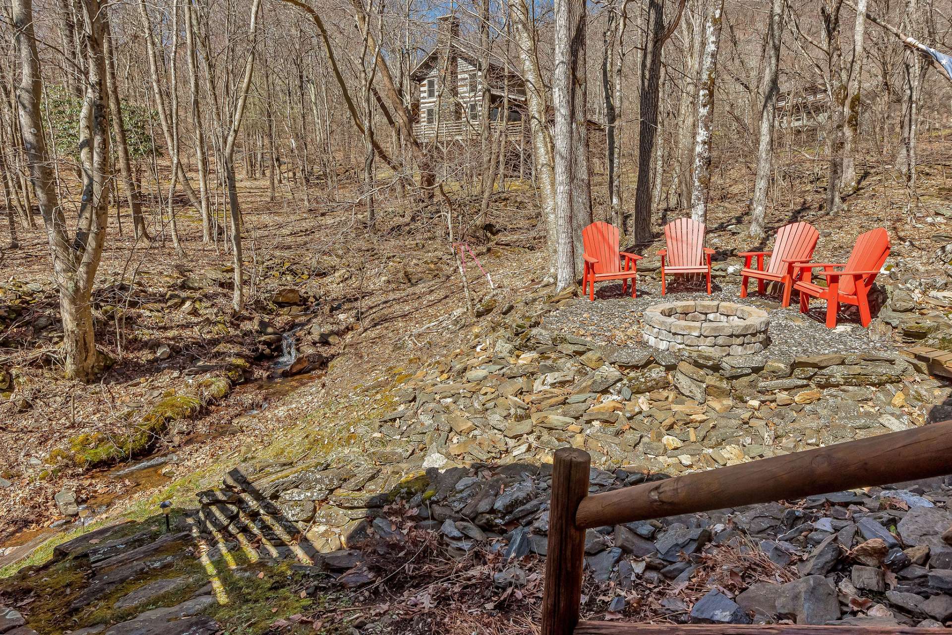
<path fill-rule="evenodd" d="M 233 472 L 223 489 L 202 495 L 201 517 L 216 531 L 262 541 L 272 555 L 307 553 L 347 588 L 381 575 L 368 543 L 406 540 L 384 510 L 399 498 L 415 527 L 436 532 L 450 554 L 500 552 L 499 587 L 526 585 L 533 567 L 541 569 L 530 554 L 546 555 L 548 465 L 429 468 L 412 485 L 405 481 L 376 496 L 344 486 L 369 471 L 276 467 Z M 625 469 L 590 472 L 593 492 L 659 478 L 664 475 Z M 326 503 L 303 503 L 322 487 Z M 939 626 L 952 620 L 950 496 L 952 479 L 935 480 L 589 529 L 585 571 L 602 586 L 601 596 L 612 598 L 603 608 L 616 613 L 661 594 L 665 612 L 684 605 L 674 616 L 684 622 Z M 273 516 L 264 518 L 268 513 Z M 340 527 L 339 542 L 328 540 L 330 526 Z M 305 539 L 288 542 L 293 535 Z M 732 571 L 729 584 L 712 584 L 711 571 L 724 568 Z M 705 585 L 703 597 L 684 599 L 686 586 Z M 598 610 L 599 602 L 589 600 L 586 609 Z"/>

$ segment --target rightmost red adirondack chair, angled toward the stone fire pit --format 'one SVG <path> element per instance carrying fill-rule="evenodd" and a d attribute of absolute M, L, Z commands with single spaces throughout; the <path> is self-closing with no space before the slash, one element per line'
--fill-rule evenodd
<path fill-rule="evenodd" d="M 800 291 L 800 312 L 809 310 L 811 298 L 825 300 L 826 327 L 833 328 L 836 327 L 840 304 L 853 305 L 860 308 L 860 323 L 868 327 L 872 319 L 869 314 L 869 289 L 888 255 L 889 234 L 883 228 L 876 228 L 860 234 L 845 265 L 794 263 L 797 274 L 794 276 L 793 288 Z M 839 267 L 843 269 L 834 270 Z M 812 272 L 815 268 L 823 268 L 817 274 L 826 278 L 826 287 L 813 284 Z"/>

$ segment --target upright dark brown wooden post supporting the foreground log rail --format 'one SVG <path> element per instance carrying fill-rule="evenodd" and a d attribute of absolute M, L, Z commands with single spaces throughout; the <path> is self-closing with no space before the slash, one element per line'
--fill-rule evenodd
<path fill-rule="evenodd" d="M 588 495 L 591 457 L 574 447 L 555 452 L 552 501 L 548 511 L 548 552 L 542 599 L 542 635 L 572 635 L 579 621 L 585 529 L 575 526 L 575 512 Z"/>

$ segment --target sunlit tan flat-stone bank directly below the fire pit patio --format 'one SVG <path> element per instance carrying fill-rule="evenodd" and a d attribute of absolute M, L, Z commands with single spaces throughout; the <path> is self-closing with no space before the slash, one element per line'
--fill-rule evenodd
<path fill-rule="evenodd" d="M 373 429 L 385 464 L 545 461 L 670 472 L 904 429 L 950 394 L 895 352 L 715 356 L 529 328 L 425 367 Z"/>

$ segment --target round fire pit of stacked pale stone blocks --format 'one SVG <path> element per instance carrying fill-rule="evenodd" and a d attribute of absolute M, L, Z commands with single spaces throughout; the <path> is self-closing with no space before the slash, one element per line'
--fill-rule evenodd
<path fill-rule="evenodd" d="M 670 302 L 645 309 L 645 344 L 716 355 L 750 355 L 768 344 L 766 311 L 733 302 Z"/>

